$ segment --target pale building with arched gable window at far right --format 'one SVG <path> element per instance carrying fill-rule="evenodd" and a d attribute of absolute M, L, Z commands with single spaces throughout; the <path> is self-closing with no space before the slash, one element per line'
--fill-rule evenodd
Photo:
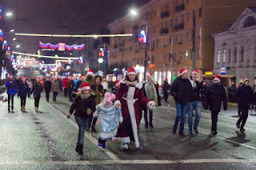
<path fill-rule="evenodd" d="M 214 44 L 214 73 L 226 74 L 228 85 L 245 77 L 256 83 L 256 7 L 247 7 L 229 30 L 214 34 Z"/>

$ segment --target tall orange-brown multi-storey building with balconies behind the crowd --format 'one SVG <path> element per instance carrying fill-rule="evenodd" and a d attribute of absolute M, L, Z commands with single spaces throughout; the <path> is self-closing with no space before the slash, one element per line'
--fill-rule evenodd
<path fill-rule="evenodd" d="M 256 6 L 256 1 L 239 4 L 239 0 L 152 0 L 138 9 L 137 16 L 126 15 L 108 25 L 111 34 L 133 34 L 110 38 L 110 67 L 134 66 L 140 80 L 150 72 L 159 85 L 166 77 L 174 80 L 182 68 L 198 69 L 200 75 L 212 72 L 212 34 L 229 28 L 244 6 Z"/>

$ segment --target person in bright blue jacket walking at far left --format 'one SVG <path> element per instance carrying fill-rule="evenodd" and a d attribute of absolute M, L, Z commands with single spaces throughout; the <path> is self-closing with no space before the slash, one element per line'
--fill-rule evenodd
<path fill-rule="evenodd" d="M 10 101 L 11 101 L 11 110 L 14 110 L 14 95 L 17 93 L 17 85 L 13 76 L 10 76 L 6 81 L 6 88 L 8 94 L 8 112 L 10 113 Z"/>

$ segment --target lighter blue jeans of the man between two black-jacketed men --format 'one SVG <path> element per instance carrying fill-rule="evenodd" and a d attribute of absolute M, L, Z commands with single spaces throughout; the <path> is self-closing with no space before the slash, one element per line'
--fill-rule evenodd
<path fill-rule="evenodd" d="M 192 125 L 193 125 L 193 110 L 195 112 L 194 118 L 194 129 L 198 128 L 198 124 L 201 117 L 201 102 L 200 101 L 192 101 L 189 103 L 189 117 L 188 117 L 188 125 L 189 131 L 192 132 Z"/>

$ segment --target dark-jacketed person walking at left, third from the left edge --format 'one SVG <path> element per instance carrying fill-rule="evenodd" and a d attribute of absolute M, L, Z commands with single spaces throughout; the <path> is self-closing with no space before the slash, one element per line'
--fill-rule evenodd
<path fill-rule="evenodd" d="M 40 79 L 37 78 L 31 90 L 31 93 L 34 93 L 34 111 L 35 112 L 38 112 L 38 106 L 39 106 L 39 101 L 40 101 L 42 91 L 43 91 L 42 83 L 40 82 Z"/>

